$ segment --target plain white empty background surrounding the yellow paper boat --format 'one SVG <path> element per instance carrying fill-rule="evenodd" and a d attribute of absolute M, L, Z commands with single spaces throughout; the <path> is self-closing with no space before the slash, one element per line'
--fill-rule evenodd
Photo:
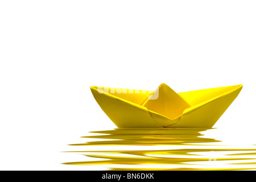
<path fill-rule="evenodd" d="M 60 164 L 69 156 L 61 151 L 115 128 L 92 85 L 243 84 L 214 137 L 254 142 L 255 9 L 234 0 L 1 1 L 0 169 L 83 169 Z"/>

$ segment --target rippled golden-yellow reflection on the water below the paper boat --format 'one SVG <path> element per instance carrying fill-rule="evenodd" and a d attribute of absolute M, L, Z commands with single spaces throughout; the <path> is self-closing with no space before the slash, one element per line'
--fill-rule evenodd
<path fill-rule="evenodd" d="M 222 145 L 220 140 L 204 138 L 207 129 L 114 129 L 92 131 L 96 139 L 70 144 L 101 150 L 78 152 L 87 158 L 63 164 L 105 166 L 110 170 L 242 170 L 256 169 L 256 146 L 247 148 Z M 101 140 L 103 139 L 103 140 Z M 122 146 L 130 146 L 122 150 Z M 154 146 L 139 150 L 138 147 Z M 165 147 L 165 149 L 158 149 Z M 114 147 L 111 150 L 111 147 Z M 118 148 L 118 150 L 117 150 Z"/>

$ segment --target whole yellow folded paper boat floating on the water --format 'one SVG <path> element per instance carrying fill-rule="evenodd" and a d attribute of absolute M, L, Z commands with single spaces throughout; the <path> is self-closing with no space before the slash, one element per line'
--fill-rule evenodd
<path fill-rule="evenodd" d="M 211 128 L 242 85 L 176 93 L 161 84 L 154 92 L 90 86 L 95 100 L 117 127 Z"/>

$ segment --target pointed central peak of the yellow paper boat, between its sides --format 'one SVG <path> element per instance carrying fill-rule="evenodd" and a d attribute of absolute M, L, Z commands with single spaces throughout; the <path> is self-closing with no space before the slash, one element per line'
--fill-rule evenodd
<path fill-rule="evenodd" d="M 179 94 L 166 84 L 161 84 L 158 89 L 155 90 L 154 95 L 148 97 L 142 106 L 170 119 L 179 117 L 183 114 L 185 109 L 190 107 Z"/>

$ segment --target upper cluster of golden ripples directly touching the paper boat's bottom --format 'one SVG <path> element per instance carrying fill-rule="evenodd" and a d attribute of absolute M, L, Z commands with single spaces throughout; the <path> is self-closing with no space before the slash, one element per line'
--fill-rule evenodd
<path fill-rule="evenodd" d="M 108 139 L 86 143 L 71 144 L 73 146 L 91 145 L 159 145 L 159 144 L 188 144 L 220 142 L 212 138 L 203 138 L 200 132 L 209 129 L 170 128 L 170 129 L 114 129 L 105 131 L 91 131 L 90 133 L 103 134 L 85 136 L 82 138 Z"/>

